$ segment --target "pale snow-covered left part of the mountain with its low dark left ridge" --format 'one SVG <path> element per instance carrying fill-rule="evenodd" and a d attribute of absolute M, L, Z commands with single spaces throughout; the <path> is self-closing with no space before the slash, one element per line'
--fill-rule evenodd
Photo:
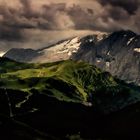
<path fill-rule="evenodd" d="M 92 37 L 94 37 L 96 41 L 102 40 L 104 36 L 104 33 L 92 35 Z M 81 44 L 83 43 L 83 41 L 85 41 L 84 38 L 87 38 L 92 42 L 89 37 L 73 37 L 66 40 L 61 40 L 55 44 L 38 50 L 13 48 L 9 50 L 3 57 L 27 63 L 46 63 L 68 60 L 78 52 Z"/>

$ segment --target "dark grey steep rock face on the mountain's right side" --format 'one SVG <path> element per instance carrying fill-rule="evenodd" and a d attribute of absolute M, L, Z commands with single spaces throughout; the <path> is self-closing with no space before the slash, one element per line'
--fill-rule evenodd
<path fill-rule="evenodd" d="M 131 31 L 114 32 L 99 42 L 83 41 L 72 59 L 87 61 L 127 82 L 140 84 L 140 36 Z"/>

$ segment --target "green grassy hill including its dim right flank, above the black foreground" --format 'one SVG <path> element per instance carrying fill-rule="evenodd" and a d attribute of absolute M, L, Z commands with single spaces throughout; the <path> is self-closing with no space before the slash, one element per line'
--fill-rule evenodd
<path fill-rule="evenodd" d="M 139 91 L 84 62 L 24 64 L 6 58 L 0 62 L 1 88 L 24 91 L 28 93 L 27 100 L 32 89 L 61 101 L 92 103 L 103 110 L 116 110 L 140 100 Z"/>

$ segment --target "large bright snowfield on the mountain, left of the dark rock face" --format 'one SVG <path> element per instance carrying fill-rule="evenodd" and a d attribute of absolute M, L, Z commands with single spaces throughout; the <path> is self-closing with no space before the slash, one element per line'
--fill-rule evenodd
<path fill-rule="evenodd" d="M 78 52 L 81 46 L 80 37 L 59 42 L 55 45 L 42 49 L 40 57 L 33 61 L 37 62 L 54 62 L 69 59 L 74 53 Z"/>

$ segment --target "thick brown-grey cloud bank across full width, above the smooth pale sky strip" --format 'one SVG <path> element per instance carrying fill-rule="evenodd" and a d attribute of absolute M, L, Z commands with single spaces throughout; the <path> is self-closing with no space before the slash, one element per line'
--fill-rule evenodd
<path fill-rule="evenodd" d="M 41 1 L 41 0 L 40 0 Z M 43 2 L 44 1 L 44 2 Z M 61 1 L 61 2 L 60 2 Z M 140 32 L 140 0 L 19 0 L 21 7 L 0 6 L 0 39 L 21 41 L 25 29 Z M 47 3 L 49 2 L 49 3 Z M 33 6 L 34 4 L 34 6 Z"/>

